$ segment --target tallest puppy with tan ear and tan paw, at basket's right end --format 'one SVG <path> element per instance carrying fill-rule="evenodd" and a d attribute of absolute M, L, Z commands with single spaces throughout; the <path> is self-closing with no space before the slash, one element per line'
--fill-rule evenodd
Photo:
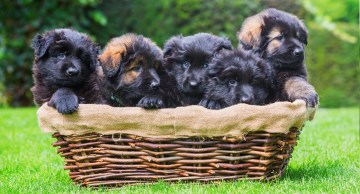
<path fill-rule="evenodd" d="M 307 30 L 296 16 L 265 9 L 247 18 L 237 35 L 239 46 L 258 53 L 275 68 L 276 90 L 268 98 L 269 103 L 303 99 L 308 106 L 318 104 L 304 64 Z"/>

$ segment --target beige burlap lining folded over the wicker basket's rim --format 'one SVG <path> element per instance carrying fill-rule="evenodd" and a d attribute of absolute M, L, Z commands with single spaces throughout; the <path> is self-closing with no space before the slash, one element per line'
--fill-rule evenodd
<path fill-rule="evenodd" d="M 132 134 L 153 138 L 234 137 L 249 132 L 288 133 L 301 129 L 315 114 L 305 102 L 276 102 L 266 106 L 238 104 L 221 110 L 187 106 L 145 110 L 139 107 L 111 107 L 81 104 L 77 112 L 62 115 L 44 104 L 37 112 L 44 132 L 62 135 Z"/>

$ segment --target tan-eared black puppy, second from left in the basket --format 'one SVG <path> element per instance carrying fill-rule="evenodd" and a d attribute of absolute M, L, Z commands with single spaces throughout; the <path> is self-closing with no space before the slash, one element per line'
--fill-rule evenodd
<path fill-rule="evenodd" d="M 144 108 L 175 107 L 175 94 L 162 66 L 162 51 L 136 34 L 113 38 L 99 56 L 107 104 Z"/>

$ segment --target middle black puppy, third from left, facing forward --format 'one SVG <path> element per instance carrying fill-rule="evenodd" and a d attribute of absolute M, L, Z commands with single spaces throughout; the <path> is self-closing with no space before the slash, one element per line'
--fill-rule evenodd
<path fill-rule="evenodd" d="M 164 46 L 165 68 L 176 80 L 182 105 L 198 104 L 206 86 L 206 69 L 212 58 L 231 42 L 208 33 L 174 36 Z"/>

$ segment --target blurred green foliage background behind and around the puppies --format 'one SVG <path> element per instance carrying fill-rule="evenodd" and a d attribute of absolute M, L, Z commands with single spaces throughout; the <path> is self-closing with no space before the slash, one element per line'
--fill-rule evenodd
<path fill-rule="evenodd" d="M 210 32 L 237 46 L 244 18 L 276 7 L 305 19 L 306 64 L 322 107 L 354 106 L 359 99 L 359 2 L 357 0 L 5 0 L 0 2 L 0 106 L 30 105 L 31 38 L 72 27 L 104 46 L 134 32 L 160 47 L 173 35 Z"/>

